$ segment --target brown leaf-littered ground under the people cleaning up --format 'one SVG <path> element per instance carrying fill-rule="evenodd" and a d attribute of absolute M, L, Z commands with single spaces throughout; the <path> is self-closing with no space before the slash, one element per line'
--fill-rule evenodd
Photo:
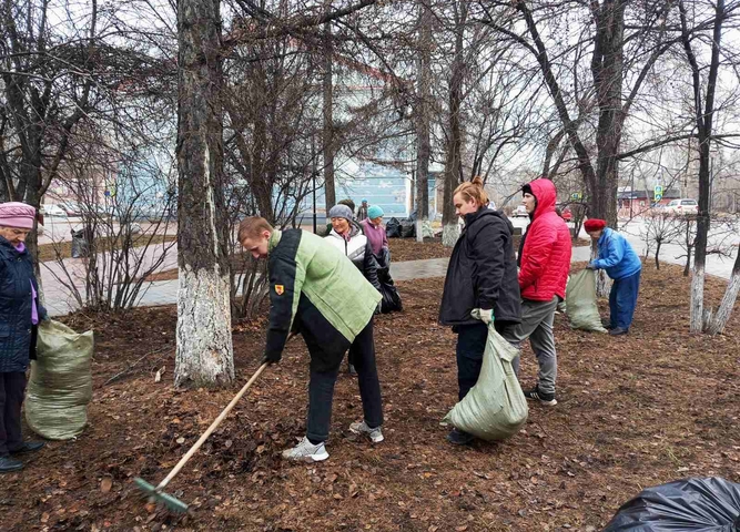
<path fill-rule="evenodd" d="M 648 485 L 695 475 L 738 482 L 740 324 L 736 313 L 727 335 L 690 336 L 680 272 L 646 266 L 627 337 L 570 330 L 558 315 L 559 405 L 531 406 L 508 441 L 464 449 L 448 446 L 439 426 L 457 393 L 455 336 L 436 323 L 443 280 L 398 283 L 404 313 L 375 326 L 386 441 L 372 447 L 347 431 L 362 407 L 356 381 L 342 375 L 330 460 L 281 460 L 304 431 L 307 354 L 294 340 L 170 484 L 192 508 L 179 518 L 148 509 L 131 480 L 159 482 L 229 402 L 257 367 L 264 324 L 234 331 L 239 383 L 175 390 L 173 307 L 99 317 L 90 427 L 2 478 L 2 529 L 586 531 L 601 530 Z M 709 301 L 723 286 L 708 279 Z M 535 376 L 527 348 L 524 385 Z"/>

